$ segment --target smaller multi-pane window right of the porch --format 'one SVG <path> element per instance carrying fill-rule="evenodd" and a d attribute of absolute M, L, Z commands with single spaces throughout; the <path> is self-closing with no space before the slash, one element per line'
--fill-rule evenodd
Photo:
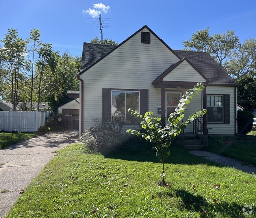
<path fill-rule="evenodd" d="M 223 95 L 207 95 L 207 123 L 223 123 Z"/>

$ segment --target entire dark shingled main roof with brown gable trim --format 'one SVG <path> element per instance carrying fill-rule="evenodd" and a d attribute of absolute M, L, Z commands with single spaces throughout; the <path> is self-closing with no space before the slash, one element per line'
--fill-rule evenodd
<path fill-rule="evenodd" d="M 182 60 L 186 58 L 189 64 L 208 81 L 208 85 L 237 86 L 234 79 L 232 79 L 208 53 L 198 51 L 173 50 L 165 42 L 163 42 L 163 40 L 159 38 L 147 25 L 141 27 L 141 29 L 136 31 L 133 35 L 128 37 L 117 46 L 84 42 L 80 74 L 87 71 L 100 60 L 104 59 L 104 57 L 109 55 L 115 49 L 119 48 L 122 44 L 124 44 L 124 42 L 134 37 L 134 35 L 139 33 L 144 28 L 147 28 L 148 31 L 150 31 L 156 38 L 158 38 L 158 40 L 160 40 L 174 55 L 176 55 L 176 57 L 178 57 L 178 59 Z M 179 62 L 180 61 L 178 61 L 176 64 Z M 176 64 L 170 66 L 166 71 L 170 72 L 173 70 L 178 66 Z M 166 71 L 162 74 L 167 73 Z M 162 74 L 160 76 L 163 76 Z"/>

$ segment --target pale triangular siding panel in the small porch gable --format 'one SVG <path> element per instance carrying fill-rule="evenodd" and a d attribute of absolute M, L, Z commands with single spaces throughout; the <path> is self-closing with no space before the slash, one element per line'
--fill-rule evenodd
<path fill-rule="evenodd" d="M 163 81 L 205 82 L 202 77 L 186 60 L 163 78 Z"/>

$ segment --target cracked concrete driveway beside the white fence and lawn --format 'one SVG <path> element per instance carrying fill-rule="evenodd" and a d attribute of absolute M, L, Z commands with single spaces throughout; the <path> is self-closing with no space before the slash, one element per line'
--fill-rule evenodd
<path fill-rule="evenodd" d="M 0 218 L 22 190 L 54 157 L 55 151 L 74 141 L 78 132 L 51 132 L 0 150 Z"/>

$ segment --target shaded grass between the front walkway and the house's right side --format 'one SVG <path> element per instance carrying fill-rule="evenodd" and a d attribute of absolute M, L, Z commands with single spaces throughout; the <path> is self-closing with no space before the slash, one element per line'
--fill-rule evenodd
<path fill-rule="evenodd" d="M 253 131 L 246 136 L 211 137 L 206 150 L 256 166 L 256 135 Z"/>

